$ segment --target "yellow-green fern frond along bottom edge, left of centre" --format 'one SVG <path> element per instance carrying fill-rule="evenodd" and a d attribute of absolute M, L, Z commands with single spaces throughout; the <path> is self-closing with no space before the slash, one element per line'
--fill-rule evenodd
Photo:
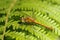
<path fill-rule="evenodd" d="M 7 32 L 6 37 L 12 37 L 15 38 L 16 40 L 37 40 L 36 37 L 32 36 L 32 35 L 27 35 L 25 32 Z"/>

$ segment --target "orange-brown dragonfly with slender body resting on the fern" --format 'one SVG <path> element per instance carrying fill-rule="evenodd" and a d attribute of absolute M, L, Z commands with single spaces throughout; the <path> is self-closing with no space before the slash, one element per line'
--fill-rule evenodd
<path fill-rule="evenodd" d="M 51 27 L 48 27 L 48 26 L 46 26 L 46 25 L 44 25 L 44 24 L 41 24 L 40 22 L 37 22 L 35 19 L 33 19 L 32 17 L 22 17 L 22 22 L 27 22 L 27 23 L 35 23 L 35 24 L 39 24 L 39 25 L 41 25 L 41 26 L 43 26 L 43 27 L 45 27 L 45 28 L 47 28 L 47 29 L 50 29 L 50 30 L 53 30 L 53 28 L 51 28 Z"/>

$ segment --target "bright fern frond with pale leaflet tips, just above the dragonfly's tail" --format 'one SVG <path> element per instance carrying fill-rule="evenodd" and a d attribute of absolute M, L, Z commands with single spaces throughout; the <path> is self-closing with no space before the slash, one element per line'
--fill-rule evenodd
<path fill-rule="evenodd" d="M 52 20 L 50 17 L 48 17 L 47 15 L 43 15 L 41 13 L 36 13 L 35 14 L 36 16 L 36 19 L 38 20 L 38 22 L 40 22 L 41 24 L 45 24 L 47 25 L 48 27 L 51 27 L 53 28 L 54 31 L 56 31 L 58 35 L 60 35 L 60 28 L 59 28 L 59 24 L 57 22 L 55 22 L 55 20 Z M 37 18 L 39 17 L 39 19 Z"/>

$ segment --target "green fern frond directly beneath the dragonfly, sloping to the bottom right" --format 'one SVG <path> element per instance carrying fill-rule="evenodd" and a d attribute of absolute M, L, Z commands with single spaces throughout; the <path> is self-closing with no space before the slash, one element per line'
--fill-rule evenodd
<path fill-rule="evenodd" d="M 14 30 L 15 29 L 18 29 L 18 28 L 20 28 L 20 29 L 22 29 L 22 30 L 26 30 L 26 31 L 28 31 L 28 32 L 30 32 L 31 34 L 34 34 L 35 36 L 37 36 L 37 38 L 41 38 L 41 36 L 43 36 L 43 38 L 45 38 L 45 39 L 49 39 L 49 40 L 55 40 L 55 38 L 57 38 L 57 36 L 53 36 L 53 38 L 51 39 L 51 37 L 52 37 L 52 35 L 54 35 L 54 34 L 49 34 L 49 35 L 47 35 L 47 34 L 45 34 L 46 32 L 45 32 L 45 30 L 43 30 L 43 29 L 41 29 L 40 27 L 36 27 L 36 26 L 27 26 L 27 25 L 19 25 L 18 23 L 16 23 L 17 21 L 15 21 L 15 22 L 13 22 L 13 28 L 14 28 Z M 41 38 L 42 40 L 45 40 L 45 39 L 43 39 L 43 38 Z"/>

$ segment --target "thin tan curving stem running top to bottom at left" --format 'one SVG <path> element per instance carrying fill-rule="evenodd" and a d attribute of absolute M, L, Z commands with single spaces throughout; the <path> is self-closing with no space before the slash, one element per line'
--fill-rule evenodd
<path fill-rule="evenodd" d="M 13 8 L 13 6 L 15 5 L 17 0 L 13 0 L 13 3 L 11 3 L 10 7 L 7 9 L 7 15 L 6 15 L 6 20 L 5 20 L 5 26 L 4 26 L 4 30 L 3 30 L 3 36 L 2 36 L 2 40 L 4 40 L 4 36 L 5 36 L 5 31 L 6 31 L 6 27 L 7 27 L 7 23 L 8 23 L 8 17 L 10 14 L 11 9 Z"/>

